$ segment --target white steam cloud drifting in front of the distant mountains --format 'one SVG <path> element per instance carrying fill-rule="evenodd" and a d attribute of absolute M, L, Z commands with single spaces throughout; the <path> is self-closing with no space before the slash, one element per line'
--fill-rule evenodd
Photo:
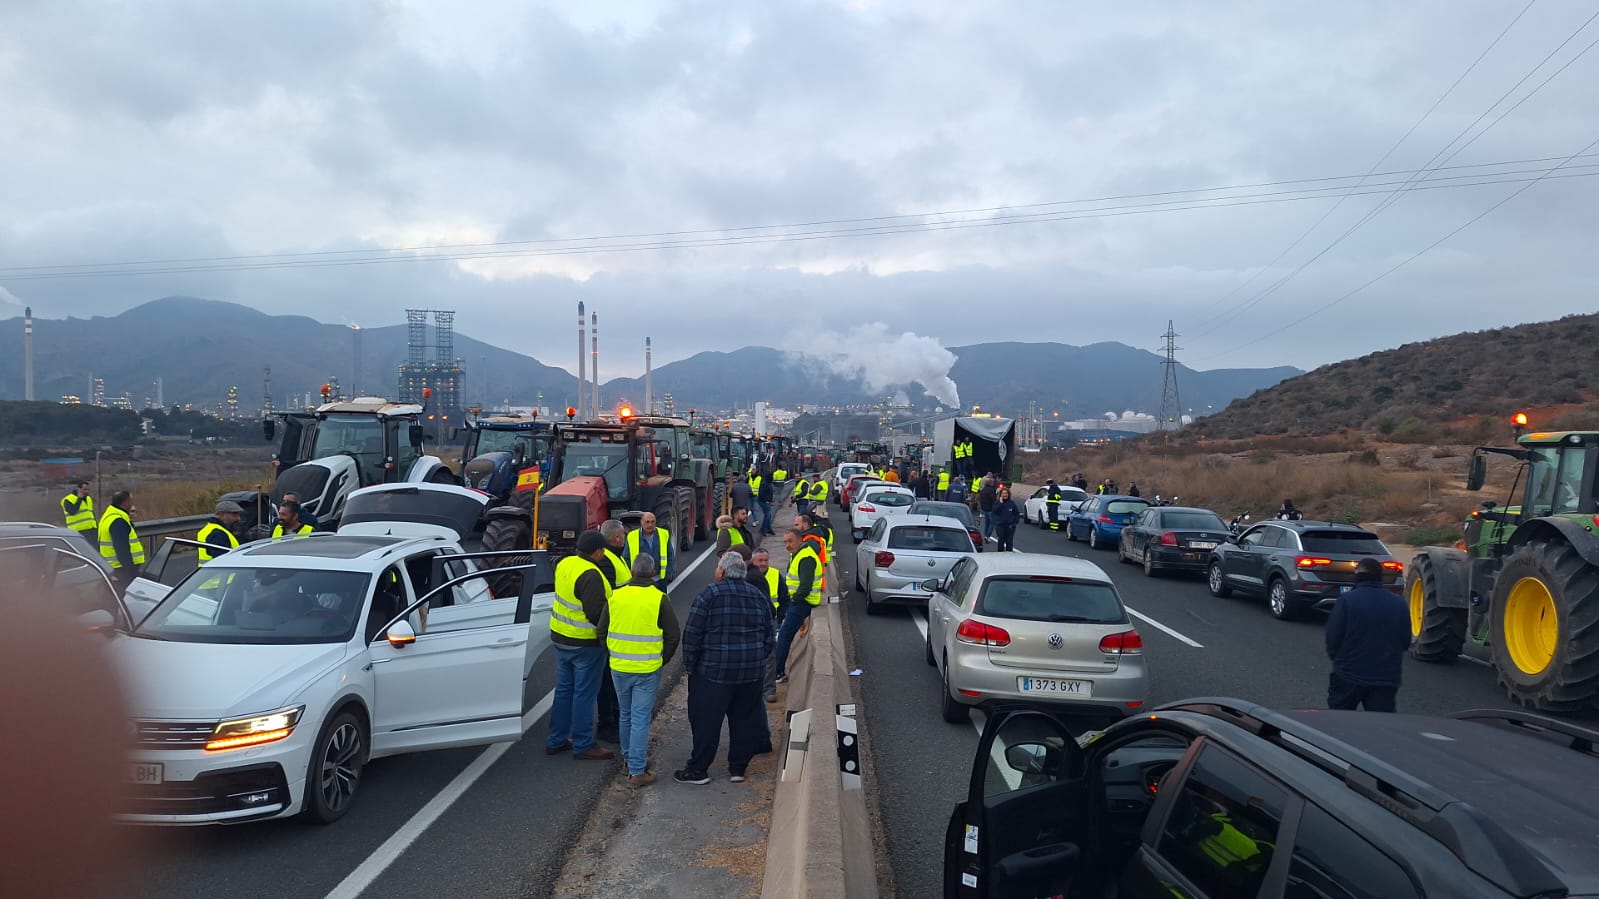
<path fill-rule="evenodd" d="M 961 406 L 959 390 L 950 379 L 955 354 L 943 349 L 937 338 L 924 338 L 911 331 L 891 334 L 881 322 L 860 325 L 847 334 L 823 334 L 822 346 L 841 347 L 827 354 L 806 354 L 803 366 L 860 379 L 875 394 L 905 384 L 921 384 L 921 389 L 950 408 Z"/>

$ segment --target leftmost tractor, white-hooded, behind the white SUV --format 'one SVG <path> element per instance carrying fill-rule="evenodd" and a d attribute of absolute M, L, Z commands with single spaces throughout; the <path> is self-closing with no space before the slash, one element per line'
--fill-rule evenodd
<path fill-rule="evenodd" d="M 429 390 L 427 395 L 432 392 Z M 323 397 L 329 395 L 323 387 Z M 336 528 L 352 491 L 376 483 L 454 483 L 456 475 L 422 451 L 425 405 L 390 403 L 381 397 L 326 402 L 310 413 L 277 413 L 262 419 L 270 443 L 283 435 L 272 464 L 277 469 L 272 502 L 293 493 L 317 517 L 318 528 Z"/>

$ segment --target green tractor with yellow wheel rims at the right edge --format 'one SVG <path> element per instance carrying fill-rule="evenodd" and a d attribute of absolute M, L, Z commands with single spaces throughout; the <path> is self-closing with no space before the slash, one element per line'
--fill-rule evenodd
<path fill-rule="evenodd" d="M 1529 709 L 1599 702 L 1599 432 L 1522 435 L 1477 446 L 1466 489 L 1482 489 L 1487 456 L 1519 462 L 1506 504 L 1471 513 L 1453 547 L 1425 547 L 1406 571 L 1410 653 L 1453 662 L 1469 640 Z"/>

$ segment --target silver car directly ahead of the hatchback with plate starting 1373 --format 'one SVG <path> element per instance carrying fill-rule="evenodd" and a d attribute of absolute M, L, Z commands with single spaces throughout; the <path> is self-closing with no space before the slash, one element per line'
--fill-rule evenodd
<path fill-rule="evenodd" d="M 886 603 L 926 605 L 929 579 L 943 579 L 956 561 L 972 553 L 966 525 L 942 515 L 886 515 L 855 547 L 855 590 L 867 597 L 867 614 Z"/>

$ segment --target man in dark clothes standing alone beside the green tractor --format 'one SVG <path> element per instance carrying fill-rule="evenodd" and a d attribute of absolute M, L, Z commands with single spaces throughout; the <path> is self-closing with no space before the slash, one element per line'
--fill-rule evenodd
<path fill-rule="evenodd" d="M 1327 619 L 1329 709 L 1394 710 L 1404 651 L 1410 648 L 1410 609 L 1382 582 L 1382 561 L 1362 558 L 1354 566 L 1354 589 L 1332 606 Z"/>

